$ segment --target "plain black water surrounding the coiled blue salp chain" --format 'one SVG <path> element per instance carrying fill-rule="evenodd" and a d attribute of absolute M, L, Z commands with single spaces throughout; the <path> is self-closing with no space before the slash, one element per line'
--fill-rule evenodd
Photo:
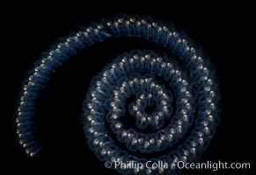
<path fill-rule="evenodd" d="M 122 3 L 120 3 L 122 4 Z M 31 4 L 29 4 L 31 5 Z M 246 30 L 247 23 L 241 12 L 232 6 L 223 4 L 203 4 L 183 8 L 179 5 L 158 4 L 139 7 L 134 4 L 118 5 L 112 9 L 99 10 L 97 5 L 77 4 L 68 8 L 53 7 L 47 4 L 29 6 L 8 5 L 9 11 L 2 15 L 4 23 L 4 45 L 2 64 L 1 98 L 1 170 L 9 172 L 83 172 L 93 170 L 95 174 L 107 170 L 93 156 L 86 144 L 79 116 L 82 113 L 83 100 L 93 75 L 99 73 L 109 59 L 126 49 L 143 49 L 150 45 L 114 40 L 105 44 L 93 45 L 91 49 L 80 52 L 74 59 L 58 70 L 45 89 L 40 103 L 38 120 L 40 137 L 45 141 L 45 149 L 40 158 L 27 158 L 16 142 L 13 134 L 13 114 L 28 71 L 48 51 L 58 38 L 77 31 L 84 24 L 114 14 L 128 13 L 148 15 L 172 21 L 182 27 L 187 35 L 199 42 L 216 66 L 220 80 L 223 112 L 216 137 L 208 147 L 201 162 L 218 160 L 232 162 L 250 162 L 253 169 L 255 146 L 252 140 L 254 117 L 253 79 L 249 79 L 253 69 L 245 38 L 250 38 Z M 103 4 L 101 4 L 102 6 Z M 91 8 L 90 8 L 91 7 Z M 242 7 L 240 7 L 242 8 Z M 3 42 L 4 43 L 4 42 Z M 143 48 L 142 48 L 143 47 Z M 6 53 L 6 54 L 5 54 Z M 248 68 L 247 68 L 248 67 Z M 247 80 L 248 79 L 248 80 Z M 254 93 L 255 94 L 255 93 Z M 3 131 L 2 131 L 3 130 Z M 3 169 L 2 169 L 3 167 Z M 187 171 L 184 174 L 252 174 L 252 170 Z M 89 172 L 90 173 L 90 172 Z"/>

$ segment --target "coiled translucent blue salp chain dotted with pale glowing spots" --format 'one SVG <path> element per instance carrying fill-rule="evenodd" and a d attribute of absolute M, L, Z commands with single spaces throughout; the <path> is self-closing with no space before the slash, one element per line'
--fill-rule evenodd
<path fill-rule="evenodd" d="M 119 37 L 148 39 L 176 58 L 163 52 L 136 50 L 117 56 L 103 68 L 91 81 L 84 101 L 82 123 L 91 150 L 101 161 L 142 164 L 148 159 L 136 155 L 137 152 L 153 154 L 170 150 L 150 160 L 160 160 L 172 165 L 172 169 L 143 166 L 117 170 L 135 174 L 177 172 L 177 162 L 194 161 L 205 151 L 218 123 L 220 98 L 208 56 L 172 25 L 124 15 L 77 32 L 40 59 L 24 86 L 18 107 L 16 132 L 27 155 L 33 157 L 41 149 L 34 134 L 34 116 L 40 92 L 51 75 L 84 47 Z M 125 117 L 135 121 L 134 127 L 126 126 Z M 173 144 L 176 144 L 174 149 Z"/>

